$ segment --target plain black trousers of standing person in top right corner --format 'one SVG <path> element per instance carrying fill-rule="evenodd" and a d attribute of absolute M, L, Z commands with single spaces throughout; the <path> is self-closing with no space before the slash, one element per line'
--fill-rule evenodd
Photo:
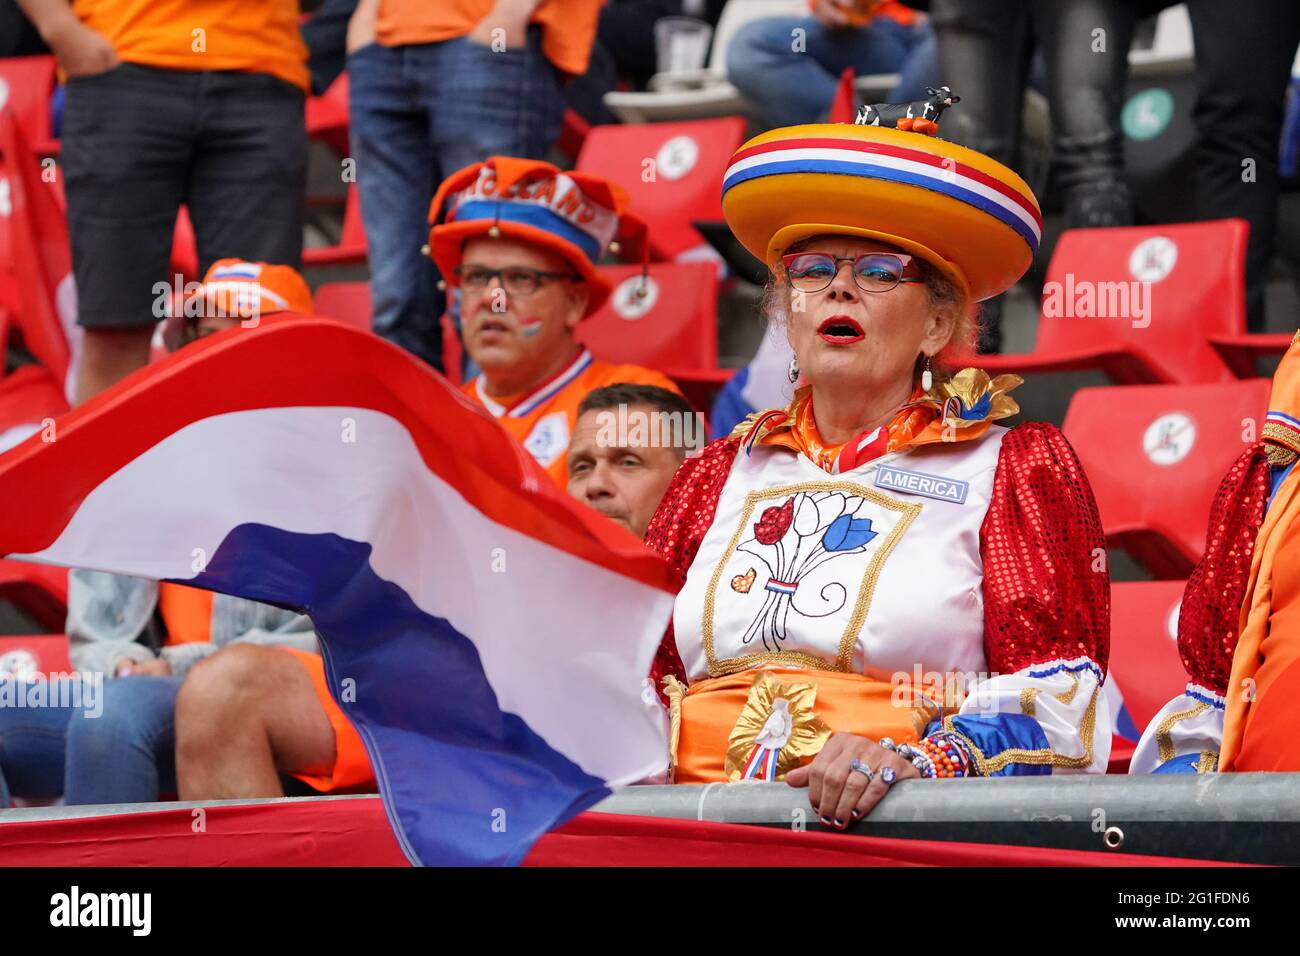
<path fill-rule="evenodd" d="M 1196 217 L 1251 224 L 1247 321 L 1264 329 L 1278 225 L 1278 140 L 1300 44 L 1296 0 L 1188 0 L 1196 44 Z"/>

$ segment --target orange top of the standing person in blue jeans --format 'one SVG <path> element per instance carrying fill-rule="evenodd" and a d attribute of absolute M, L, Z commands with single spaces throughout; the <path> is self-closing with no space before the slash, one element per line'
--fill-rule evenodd
<path fill-rule="evenodd" d="M 380 0 L 374 38 L 385 47 L 464 36 L 491 13 L 494 0 Z M 595 21 L 604 0 L 542 0 L 530 23 L 542 27 L 542 52 L 564 73 L 586 73 Z"/>

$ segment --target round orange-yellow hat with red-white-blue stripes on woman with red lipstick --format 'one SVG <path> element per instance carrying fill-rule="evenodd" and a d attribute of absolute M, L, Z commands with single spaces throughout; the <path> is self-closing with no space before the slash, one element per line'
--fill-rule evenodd
<path fill-rule="evenodd" d="M 768 265 L 800 239 L 861 235 L 926 259 L 975 300 L 1010 289 L 1043 237 L 1037 199 L 1001 163 L 919 133 L 850 124 L 750 139 L 727 168 L 723 212 Z"/>

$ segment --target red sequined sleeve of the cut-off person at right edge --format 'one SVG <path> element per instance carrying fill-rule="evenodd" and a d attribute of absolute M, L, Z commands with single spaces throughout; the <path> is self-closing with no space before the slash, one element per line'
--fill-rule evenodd
<path fill-rule="evenodd" d="M 1219 696 L 1227 693 L 1232 675 L 1242 601 L 1269 488 L 1269 460 L 1258 442 L 1232 463 L 1214 493 L 1205 554 L 1187 579 L 1178 613 L 1178 653 L 1187 676 Z"/>

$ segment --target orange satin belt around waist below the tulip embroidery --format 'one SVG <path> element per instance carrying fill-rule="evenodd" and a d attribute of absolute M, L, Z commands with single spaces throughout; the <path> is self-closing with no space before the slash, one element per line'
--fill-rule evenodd
<path fill-rule="evenodd" d="M 781 683 L 815 684 L 812 710 L 832 732 L 857 734 L 872 740 L 888 736 L 900 744 L 915 743 L 920 736 L 913 715 L 923 717 L 924 711 L 911 706 L 910 687 L 900 688 L 863 674 L 798 667 L 751 669 L 698 680 L 686 689 L 681 698 L 673 782 L 715 783 L 729 779 L 727 748 L 731 732 L 760 672 Z"/>

